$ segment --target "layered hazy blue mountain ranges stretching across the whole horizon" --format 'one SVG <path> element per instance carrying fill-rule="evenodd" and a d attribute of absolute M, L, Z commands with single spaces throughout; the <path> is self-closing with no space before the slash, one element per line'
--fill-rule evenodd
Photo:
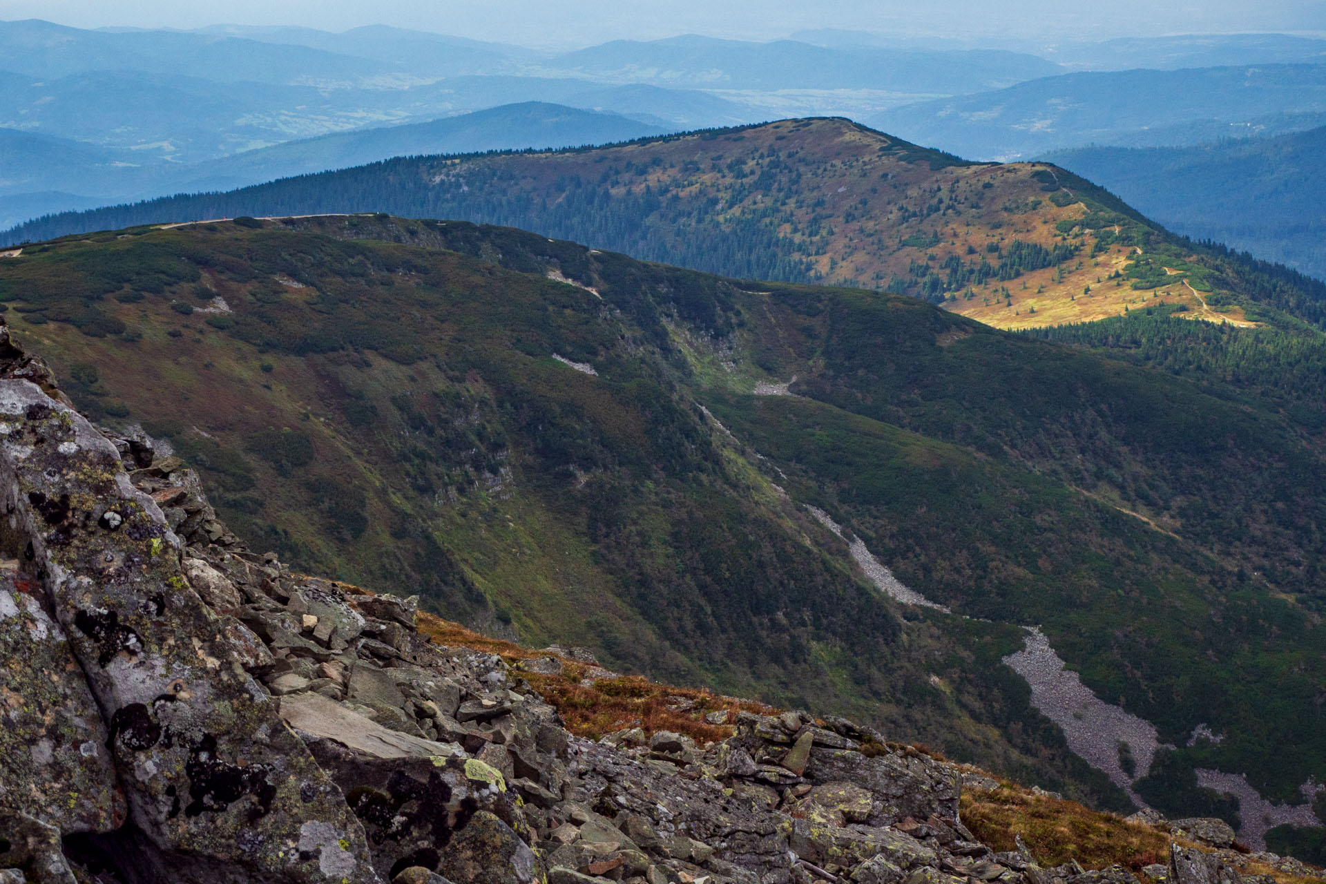
<path fill-rule="evenodd" d="M 11 69 L 0 70 L 0 228 L 408 154 L 566 147 L 789 117 L 867 121 L 971 159 L 1268 137 L 1326 125 L 1323 52 L 1326 41 L 1284 34 L 973 49 L 818 30 L 768 44 L 683 36 L 548 53 L 386 27 L 0 23 L 0 65 Z M 1201 68 L 1229 62 L 1238 66 Z M 1082 70 L 1062 73 L 1073 69 Z M 1111 186 L 1148 175 L 1083 168 Z M 1232 199 L 1245 186 L 1228 178 Z M 1180 217 L 1192 204 L 1172 187 L 1128 193 L 1176 229 L 1315 266 L 1315 227 L 1298 216 L 1238 212 L 1236 228 L 1215 223 L 1219 212 Z M 1258 201 L 1289 208 L 1266 193 Z"/>

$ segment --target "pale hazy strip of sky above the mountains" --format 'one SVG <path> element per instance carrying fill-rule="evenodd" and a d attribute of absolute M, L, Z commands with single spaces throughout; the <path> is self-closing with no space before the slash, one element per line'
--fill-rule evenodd
<path fill-rule="evenodd" d="M 81 28 L 391 24 L 526 45 L 804 28 L 1063 40 L 1195 32 L 1326 32 L 1326 0 L 0 0 L 0 19 Z"/>

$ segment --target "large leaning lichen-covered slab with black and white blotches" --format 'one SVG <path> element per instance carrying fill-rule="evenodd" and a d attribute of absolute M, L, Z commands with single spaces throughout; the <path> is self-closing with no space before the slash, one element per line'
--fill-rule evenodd
<path fill-rule="evenodd" d="M 375 881 L 341 791 L 233 663 L 178 537 L 77 412 L 0 380 L 11 527 L 103 716 L 133 823 L 217 876 Z"/>

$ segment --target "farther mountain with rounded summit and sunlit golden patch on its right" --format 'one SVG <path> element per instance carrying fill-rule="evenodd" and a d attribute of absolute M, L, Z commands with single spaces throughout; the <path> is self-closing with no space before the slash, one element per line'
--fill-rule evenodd
<path fill-rule="evenodd" d="M 843 119 L 572 151 L 403 158 L 44 219 L 11 240 L 175 219 L 390 211 L 508 224 L 639 258 L 912 294 L 996 327 L 1158 307 L 1264 321 L 1281 294 L 1063 170 L 977 164 Z M 1274 288 L 1274 286 L 1270 286 Z M 1311 300 L 1290 292 L 1289 297 Z"/>

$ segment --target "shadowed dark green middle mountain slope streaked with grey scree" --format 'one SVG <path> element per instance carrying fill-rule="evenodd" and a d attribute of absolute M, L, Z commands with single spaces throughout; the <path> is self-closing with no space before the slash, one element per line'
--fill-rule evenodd
<path fill-rule="evenodd" d="M 387 216 L 73 236 L 0 258 L 0 301 L 82 408 L 168 440 L 298 567 L 1098 806 L 1237 822 L 1197 770 L 1302 810 L 1326 778 L 1319 440 L 1233 386 Z M 1155 765 L 1070 751 L 1001 663 L 1029 626 Z"/>

